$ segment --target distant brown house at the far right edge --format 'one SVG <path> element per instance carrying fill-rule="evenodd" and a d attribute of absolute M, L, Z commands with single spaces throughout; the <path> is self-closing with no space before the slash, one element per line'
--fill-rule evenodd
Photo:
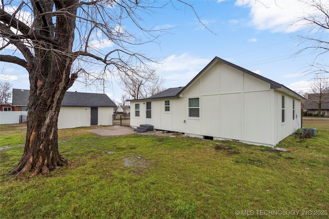
<path fill-rule="evenodd" d="M 307 114 L 318 114 L 329 116 L 329 93 L 323 94 L 321 98 L 321 112 L 319 112 L 319 94 L 318 93 L 305 93 L 304 110 Z"/>

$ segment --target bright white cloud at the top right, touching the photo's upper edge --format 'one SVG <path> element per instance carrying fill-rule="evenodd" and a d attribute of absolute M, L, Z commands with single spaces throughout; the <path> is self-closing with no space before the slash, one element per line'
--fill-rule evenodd
<path fill-rule="evenodd" d="M 295 32 L 302 13 L 313 13 L 298 0 L 237 0 L 235 5 L 250 8 L 251 26 L 272 32 Z"/>

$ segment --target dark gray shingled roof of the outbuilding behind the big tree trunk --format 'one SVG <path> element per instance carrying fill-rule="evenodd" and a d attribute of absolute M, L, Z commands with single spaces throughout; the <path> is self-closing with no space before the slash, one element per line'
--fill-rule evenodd
<path fill-rule="evenodd" d="M 30 91 L 12 89 L 14 106 L 27 106 Z M 68 107 L 116 107 L 106 94 L 66 92 L 61 106 Z"/>

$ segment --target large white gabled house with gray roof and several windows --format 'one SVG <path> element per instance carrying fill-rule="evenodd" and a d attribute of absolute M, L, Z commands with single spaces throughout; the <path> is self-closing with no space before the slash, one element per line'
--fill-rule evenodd
<path fill-rule="evenodd" d="M 215 57 L 185 87 L 132 99 L 131 127 L 273 147 L 301 128 L 299 94 Z"/>

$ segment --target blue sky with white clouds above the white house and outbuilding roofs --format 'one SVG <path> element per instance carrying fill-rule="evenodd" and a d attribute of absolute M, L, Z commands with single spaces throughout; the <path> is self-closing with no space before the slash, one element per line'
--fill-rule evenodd
<path fill-rule="evenodd" d="M 160 4 L 165 1 L 160 1 Z M 188 1 L 209 30 L 198 21 L 188 6 L 174 1 L 176 9 L 167 6 L 158 13 L 145 15 L 149 27 L 171 28 L 162 35 L 159 44 L 136 47 L 160 60 L 156 72 L 166 79 L 166 88 L 185 86 L 215 56 L 265 76 L 293 90 L 309 89 L 314 75 L 308 75 L 314 51 L 296 52 L 306 47 L 297 34 L 309 30 L 293 25 L 302 12 L 309 12 L 298 0 Z M 178 9 L 178 10 L 177 10 Z M 300 24 L 300 23 L 297 23 Z M 130 30 L 131 27 L 125 27 Z M 312 33 L 312 32 L 311 32 Z M 312 33 L 314 34 L 314 33 Z M 317 33 L 321 34 L 321 33 Z M 325 33 L 327 34 L 327 33 Z M 111 44 L 102 50 L 111 50 Z M 328 54 L 318 57 L 328 63 Z M 13 88 L 29 89 L 28 74 L 18 66 L 0 63 L 0 79 Z M 105 83 L 105 93 L 120 99 L 122 89 L 112 78 Z M 102 87 L 86 88 L 76 83 L 69 91 L 103 92 Z"/>

